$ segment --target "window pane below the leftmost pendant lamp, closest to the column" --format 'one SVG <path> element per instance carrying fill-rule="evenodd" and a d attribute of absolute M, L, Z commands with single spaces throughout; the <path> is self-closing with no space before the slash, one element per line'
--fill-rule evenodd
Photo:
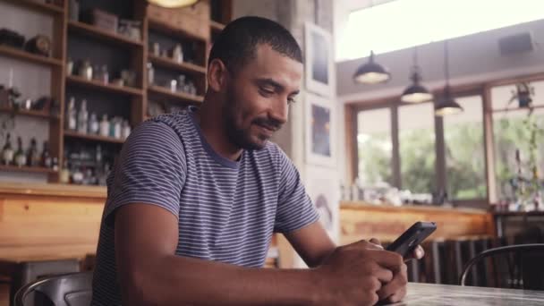
<path fill-rule="evenodd" d="M 391 162 L 391 110 L 359 112 L 357 115 L 359 180 L 365 185 L 393 184 Z"/>

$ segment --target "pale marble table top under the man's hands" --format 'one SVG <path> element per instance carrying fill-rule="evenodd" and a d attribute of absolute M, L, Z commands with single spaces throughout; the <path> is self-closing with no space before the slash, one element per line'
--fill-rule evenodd
<path fill-rule="evenodd" d="M 544 305 L 544 291 L 409 283 L 404 301 L 390 305 L 536 306 Z"/>

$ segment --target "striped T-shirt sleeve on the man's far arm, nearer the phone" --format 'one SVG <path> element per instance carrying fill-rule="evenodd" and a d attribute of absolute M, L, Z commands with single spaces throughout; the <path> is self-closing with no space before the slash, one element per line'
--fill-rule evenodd
<path fill-rule="evenodd" d="M 280 151 L 280 183 L 276 210 L 276 233 L 290 233 L 319 220 L 310 197 L 304 189 L 301 175 L 289 157 Z"/>

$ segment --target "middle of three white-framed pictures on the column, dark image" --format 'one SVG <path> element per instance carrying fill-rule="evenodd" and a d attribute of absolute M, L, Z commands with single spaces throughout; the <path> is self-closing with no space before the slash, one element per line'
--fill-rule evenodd
<path fill-rule="evenodd" d="M 308 164 L 336 166 L 335 106 L 326 98 L 306 95 L 306 161 Z"/>

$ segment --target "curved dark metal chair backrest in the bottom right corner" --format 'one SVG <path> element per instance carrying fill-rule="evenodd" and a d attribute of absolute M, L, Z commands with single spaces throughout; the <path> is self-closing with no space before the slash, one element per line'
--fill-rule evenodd
<path fill-rule="evenodd" d="M 476 270 L 473 268 L 475 265 L 480 265 L 484 259 L 491 259 L 491 269 L 496 278 L 497 275 L 507 277 L 506 282 L 496 279 L 495 286 L 544 290 L 544 274 L 540 268 L 542 255 L 544 243 L 508 245 L 482 251 L 465 265 L 459 284 L 466 285 L 467 276 Z M 498 257 L 503 260 L 499 262 Z"/>

